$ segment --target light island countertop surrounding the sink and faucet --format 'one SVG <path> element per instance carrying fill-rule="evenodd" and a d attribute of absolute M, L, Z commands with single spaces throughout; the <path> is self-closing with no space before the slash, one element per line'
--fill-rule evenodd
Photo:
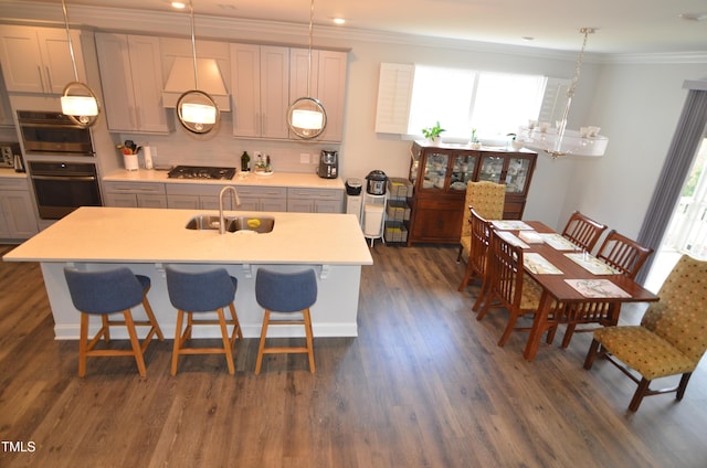
<path fill-rule="evenodd" d="M 147 171 L 145 171 L 147 172 Z M 274 177 L 274 176 L 273 176 Z M 273 216 L 267 234 L 191 231 L 210 210 L 83 206 L 19 245 L 8 262 L 371 265 L 352 214 L 226 212 Z"/>

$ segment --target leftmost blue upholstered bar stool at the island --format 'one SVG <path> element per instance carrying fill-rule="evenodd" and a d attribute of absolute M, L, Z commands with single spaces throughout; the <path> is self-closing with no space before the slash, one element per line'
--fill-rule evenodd
<path fill-rule="evenodd" d="M 146 375 L 144 353 L 152 337 L 160 341 L 165 339 L 155 319 L 155 313 L 147 300 L 150 289 L 150 278 L 135 275 L 129 268 L 110 268 L 105 270 L 78 270 L 64 268 L 64 277 L 68 286 L 68 294 L 74 307 L 81 312 L 81 336 L 78 339 L 78 376 L 86 374 L 87 357 L 120 357 L 135 358 L 140 376 Z M 133 309 L 143 305 L 147 320 L 135 320 Z M 123 320 L 110 320 L 109 316 L 122 313 Z M 88 325 L 91 316 L 99 316 L 102 327 L 88 341 Z M 130 340 L 130 350 L 95 349 L 103 338 L 110 341 L 110 327 L 125 326 Z M 149 327 L 147 336 L 139 343 L 136 327 Z"/>

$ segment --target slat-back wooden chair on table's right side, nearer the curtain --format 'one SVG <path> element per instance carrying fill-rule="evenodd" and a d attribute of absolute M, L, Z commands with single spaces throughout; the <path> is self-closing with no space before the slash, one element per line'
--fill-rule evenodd
<path fill-rule="evenodd" d="M 602 243 L 597 258 L 610 265 L 618 273 L 633 279 L 645 260 L 653 253 L 653 248 L 644 247 L 637 242 L 611 230 Z M 581 323 L 599 323 L 603 327 L 615 326 L 619 321 L 621 305 L 609 305 L 605 302 L 583 302 L 566 305 L 562 310 L 563 321 L 567 321 L 567 329 L 562 338 L 562 348 L 570 344 L 574 332 L 593 331 L 592 328 L 577 329 Z"/>

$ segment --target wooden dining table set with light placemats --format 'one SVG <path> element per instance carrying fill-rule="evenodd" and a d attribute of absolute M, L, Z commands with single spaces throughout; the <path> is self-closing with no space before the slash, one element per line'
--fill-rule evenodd
<path fill-rule="evenodd" d="M 658 300 L 656 295 L 633 279 L 612 272 L 608 266 L 609 269 L 602 268 L 605 264 L 593 255 L 582 252 L 579 247 L 572 247 L 569 241 L 563 243 L 560 234 L 539 221 L 492 223 L 498 232 L 507 232 L 510 238 L 515 236 L 524 244 L 524 272 L 542 288 L 540 304 L 524 352 L 528 361 L 535 359 L 542 333 L 558 325 L 571 322 L 570 317 L 561 313 L 552 315 L 552 306 L 556 301 L 562 305 L 606 302 L 615 305 L 619 309 L 619 306 L 624 302 Z M 526 235 L 521 235 L 521 232 Z M 544 241 L 540 243 L 524 241 L 524 236 L 532 237 L 534 235 L 542 237 Z M 600 273 L 595 274 L 591 270 Z"/>

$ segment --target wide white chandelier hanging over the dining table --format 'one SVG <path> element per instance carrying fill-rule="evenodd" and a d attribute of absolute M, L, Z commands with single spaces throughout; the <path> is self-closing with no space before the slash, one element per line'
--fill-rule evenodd
<path fill-rule="evenodd" d="M 579 73 L 582 67 L 582 60 L 584 57 L 584 49 L 587 47 L 587 38 L 594 32 L 592 28 L 582 28 L 579 30 L 584 34 L 584 42 L 582 49 L 577 57 L 577 65 L 574 67 L 574 76 L 567 91 L 567 104 L 562 113 L 561 120 L 557 121 L 557 128 L 549 128 L 547 124 L 540 124 L 540 126 L 520 127 L 518 130 L 519 140 L 524 147 L 536 150 L 545 151 L 553 159 L 561 156 L 604 156 L 606 151 L 606 145 L 609 139 L 599 135 L 599 127 L 582 127 L 580 131 L 567 129 L 567 117 L 570 113 L 570 106 L 572 98 L 574 97 L 574 91 L 579 83 Z"/>

